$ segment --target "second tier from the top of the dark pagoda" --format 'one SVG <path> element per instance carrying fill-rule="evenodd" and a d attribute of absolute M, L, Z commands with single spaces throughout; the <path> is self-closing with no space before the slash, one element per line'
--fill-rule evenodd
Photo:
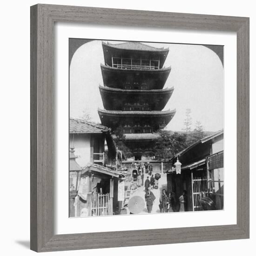
<path fill-rule="evenodd" d="M 117 68 L 101 64 L 104 86 L 123 89 L 124 85 L 146 85 L 149 90 L 162 89 L 171 67 L 157 69 Z"/>

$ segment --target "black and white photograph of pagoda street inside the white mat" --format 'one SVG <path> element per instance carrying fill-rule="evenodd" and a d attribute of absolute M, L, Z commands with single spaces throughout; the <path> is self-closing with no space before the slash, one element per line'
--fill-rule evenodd
<path fill-rule="evenodd" d="M 69 217 L 224 209 L 222 45 L 69 38 Z"/>

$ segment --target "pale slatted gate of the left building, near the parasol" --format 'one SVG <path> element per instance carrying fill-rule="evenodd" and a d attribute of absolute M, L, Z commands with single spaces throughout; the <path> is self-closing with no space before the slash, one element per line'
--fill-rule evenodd
<path fill-rule="evenodd" d="M 110 215 L 110 198 L 108 194 L 93 193 L 92 196 L 92 216 Z"/>

